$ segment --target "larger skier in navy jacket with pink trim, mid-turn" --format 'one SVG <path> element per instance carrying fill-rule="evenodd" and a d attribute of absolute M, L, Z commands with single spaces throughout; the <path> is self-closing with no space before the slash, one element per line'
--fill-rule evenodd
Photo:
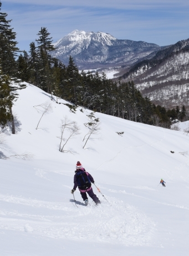
<path fill-rule="evenodd" d="M 78 174 L 86 174 L 88 176 L 88 180 L 89 180 L 89 183 L 87 185 L 81 185 L 79 186 L 78 184 Z M 85 176 L 86 176 L 85 175 Z M 85 204 L 88 204 L 88 197 L 86 195 L 86 193 L 88 193 L 88 195 L 90 196 L 91 199 L 93 199 L 93 201 L 96 203 L 96 204 L 100 204 L 100 200 L 98 199 L 98 197 L 94 194 L 93 192 L 93 189 L 91 188 L 91 183 L 94 183 L 94 179 L 93 177 L 87 173 L 85 171 L 85 169 L 83 168 L 83 166 L 81 165 L 81 163 L 78 161 L 77 164 L 76 164 L 76 171 L 75 171 L 75 175 L 74 175 L 74 188 L 71 190 L 71 194 L 74 193 L 74 191 L 76 190 L 77 186 L 78 186 L 78 189 L 80 191 L 80 194 L 83 198 L 83 200 L 85 201 Z"/>

